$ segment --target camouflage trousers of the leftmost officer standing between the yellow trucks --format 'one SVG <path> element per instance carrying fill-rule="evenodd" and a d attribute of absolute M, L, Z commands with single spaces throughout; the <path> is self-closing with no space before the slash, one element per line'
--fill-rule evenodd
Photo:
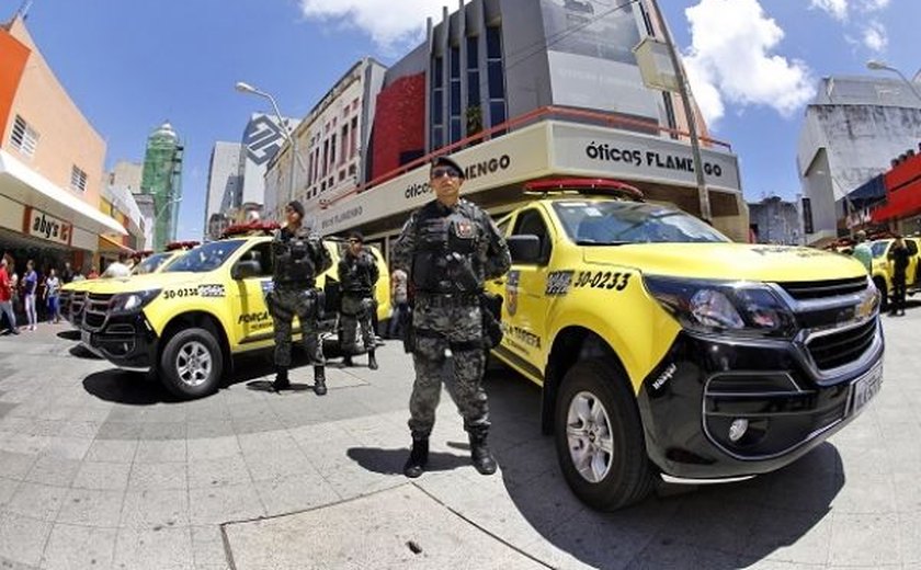
<path fill-rule="evenodd" d="M 275 365 L 291 366 L 292 320 L 300 322 L 304 351 L 310 362 L 323 365 L 323 346 L 317 323 L 318 298 L 312 288 L 275 288 L 265 299 L 275 321 Z"/>

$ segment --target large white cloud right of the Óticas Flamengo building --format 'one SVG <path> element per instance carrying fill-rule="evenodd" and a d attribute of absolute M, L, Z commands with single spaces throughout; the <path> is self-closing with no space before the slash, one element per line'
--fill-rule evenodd
<path fill-rule="evenodd" d="M 685 67 L 708 122 L 724 115 L 724 100 L 788 116 L 815 95 L 805 64 L 772 53 L 784 32 L 758 0 L 701 0 L 684 13 L 691 23 Z"/>

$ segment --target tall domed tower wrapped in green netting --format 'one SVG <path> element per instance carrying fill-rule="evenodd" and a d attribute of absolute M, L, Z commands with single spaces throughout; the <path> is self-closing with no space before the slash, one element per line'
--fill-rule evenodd
<path fill-rule="evenodd" d="M 182 153 L 179 135 L 169 122 L 147 137 L 140 190 L 154 197 L 154 249 L 175 240 L 182 200 Z"/>

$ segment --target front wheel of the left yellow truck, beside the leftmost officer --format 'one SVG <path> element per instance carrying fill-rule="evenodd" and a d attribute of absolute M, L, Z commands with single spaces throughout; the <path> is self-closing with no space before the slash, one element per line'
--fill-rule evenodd
<path fill-rule="evenodd" d="M 160 377 L 175 396 L 194 399 L 217 389 L 224 368 L 220 346 L 205 329 L 184 329 L 167 343 L 160 356 Z"/>

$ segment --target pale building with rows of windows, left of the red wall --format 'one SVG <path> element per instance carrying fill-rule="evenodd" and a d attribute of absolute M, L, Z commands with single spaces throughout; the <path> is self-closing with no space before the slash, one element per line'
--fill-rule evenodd
<path fill-rule="evenodd" d="M 366 57 L 355 62 L 297 125 L 299 157 L 291 181 L 289 145 L 269 163 L 265 210 L 280 219 L 282 206 L 298 198 L 308 208 L 339 197 L 367 180 L 366 152 L 375 121 L 377 94 L 386 67 Z M 312 204 L 314 206 L 309 206 Z"/>

